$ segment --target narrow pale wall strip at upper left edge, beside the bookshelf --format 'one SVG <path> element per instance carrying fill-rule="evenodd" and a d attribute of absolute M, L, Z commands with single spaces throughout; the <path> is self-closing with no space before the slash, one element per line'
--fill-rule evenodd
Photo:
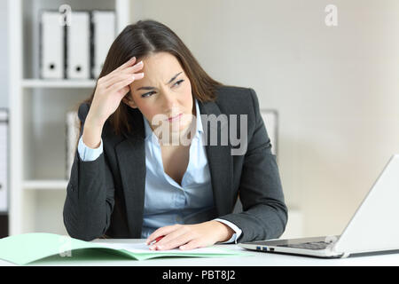
<path fill-rule="evenodd" d="M 0 107 L 8 107 L 8 4 L 0 0 Z"/>

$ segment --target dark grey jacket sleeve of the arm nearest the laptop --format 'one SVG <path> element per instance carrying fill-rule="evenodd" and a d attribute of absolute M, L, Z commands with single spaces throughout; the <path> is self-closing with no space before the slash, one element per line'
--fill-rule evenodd
<path fill-rule="evenodd" d="M 256 94 L 252 89 L 250 93 L 255 126 L 248 141 L 239 184 L 243 211 L 220 217 L 242 230 L 238 242 L 276 239 L 284 233 L 288 219 L 276 156 L 271 153 Z"/>

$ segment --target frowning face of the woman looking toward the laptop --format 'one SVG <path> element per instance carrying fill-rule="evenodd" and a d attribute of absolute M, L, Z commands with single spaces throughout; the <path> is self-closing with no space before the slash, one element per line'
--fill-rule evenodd
<path fill-rule="evenodd" d="M 192 84 L 184 69 L 176 57 L 168 52 L 154 53 L 142 60 L 144 67 L 141 72 L 144 72 L 144 78 L 130 84 L 132 98 L 124 99 L 124 102 L 138 108 L 153 130 L 160 123 L 169 123 L 168 129 L 171 131 L 185 130 L 192 122 L 195 107 Z M 173 121 L 168 120 L 177 114 L 184 115 Z"/>

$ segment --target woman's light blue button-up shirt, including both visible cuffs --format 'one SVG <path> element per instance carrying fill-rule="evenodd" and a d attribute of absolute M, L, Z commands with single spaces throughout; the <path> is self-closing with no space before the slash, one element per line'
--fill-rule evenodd
<path fill-rule="evenodd" d="M 165 225 L 198 224 L 209 220 L 215 214 L 212 184 L 203 143 L 203 128 L 197 99 L 196 131 L 190 145 L 190 158 L 181 185 L 169 177 L 163 169 L 160 144 L 143 116 L 145 122 L 145 207 L 142 238 L 147 238 L 156 229 Z M 103 142 L 96 149 L 85 146 L 82 137 L 78 152 L 82 161 L 94 161 L 103 152 Z M 229 241 L 239 239 L 239 227 L 227 220 L 216 218 L 235 232 Z"/>

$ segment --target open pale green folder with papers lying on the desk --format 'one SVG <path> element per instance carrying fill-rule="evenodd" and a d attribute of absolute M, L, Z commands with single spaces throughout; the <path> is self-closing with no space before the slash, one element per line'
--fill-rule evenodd
<path fill-rule="evenodd" d="M 117 239 L 115 239 L 117 242 Z M 109 253 L 111 259 L 116 256 L 121 258 L 128 257 L 134 260 L 145 260 L 162 256 L 192 256 L 192 257 L 221 257 L 221 256 L 251 256 L 246 252 L 226 248 L 193 249 L 187 251 L 168 250 L 168 251 L 136 251 L 135 249 L 123 248 L 119 246 L 107 245 L 106 243 L 96 243 L 81 241 L 78 239 L 62 236 L 54 233 L 23 233 L 0 239 L 0 259 L 14 264 L 29 264 L 36 260 L 48 256 L 71 256 L 79 257 L 81 254 L 74 254 L 75 250 L 84 248 L 96 248 Z M 135 251 L 132 251 L 135 250 Z M 107 254 L 103 254 L 106 256 Z"/>

